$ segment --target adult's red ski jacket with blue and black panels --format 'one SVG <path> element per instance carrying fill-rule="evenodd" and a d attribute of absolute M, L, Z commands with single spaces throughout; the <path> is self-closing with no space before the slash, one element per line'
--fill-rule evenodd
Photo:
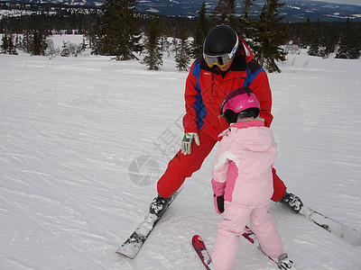
<path fill-rule="evenodd" d="M 206 132 L 218 139 L 218 134 L 229 126 L 219 117 L 219 106 L 226 95 L 242 86 L 254 90 L 261 104 L 260 116 L 270 127 L 272 94 L 268 77 L 256 61 L 244 40 L 236 52 L 232 66 L 227 72 L 218 67 L 208 67 L 203 57 L 197 58 L 190 67 L 184 94 L 186 114 L 183 117 L 185 132 Z"/>

